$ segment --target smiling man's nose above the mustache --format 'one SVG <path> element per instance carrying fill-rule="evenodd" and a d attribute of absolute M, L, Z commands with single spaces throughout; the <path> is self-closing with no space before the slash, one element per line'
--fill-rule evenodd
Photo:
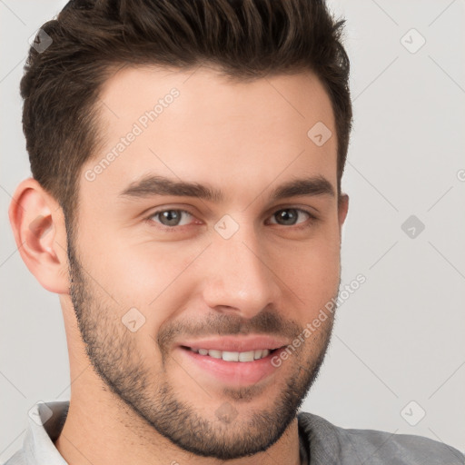
<path fill-rule="evenodd" d="M 225 240 L 215 237 L 210 246 L 203 300 L 217 312 L 234 312 L 252 318 L 269 304 L 276 305 L 281 287 L 279 270 L 254 233 L 236 233 Z"/>

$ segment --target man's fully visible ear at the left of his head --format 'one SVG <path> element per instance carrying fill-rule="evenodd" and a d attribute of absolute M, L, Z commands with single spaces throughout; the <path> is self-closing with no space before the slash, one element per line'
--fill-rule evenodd
<path fill-rule="evenodd" d="M 64 214 L 33 178 L 16 188 L 8 211 L 15 242 L 25 265 L 47 291 L 69 293 Z"/>

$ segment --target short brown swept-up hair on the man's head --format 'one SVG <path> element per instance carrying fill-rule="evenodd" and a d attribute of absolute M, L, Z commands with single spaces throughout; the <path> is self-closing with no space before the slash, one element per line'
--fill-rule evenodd
<path fill-rule="evenodd" d="M 323 0 L 71 1 L 42 26 L 51 44 L 30 48 L 21 81 L 33 176 L 70 220 L 81 169 L 98 144 L 104 81 L 124 64 L 213 64 L 239 80 L 318 76 L 335 116 L 340 193 L 352 118 L 343 23 Z"/>

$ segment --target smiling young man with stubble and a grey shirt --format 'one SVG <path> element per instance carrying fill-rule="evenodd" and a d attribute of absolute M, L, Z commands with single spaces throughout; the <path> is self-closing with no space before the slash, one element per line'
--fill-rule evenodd
<path fill-rule="evenodd" d="M 462 463 L 297 414 L 341 277 L 341 27 L 310 0 L 70 2 L 42 27 L 10 220 L 73 383 L 9 465 Z"/>

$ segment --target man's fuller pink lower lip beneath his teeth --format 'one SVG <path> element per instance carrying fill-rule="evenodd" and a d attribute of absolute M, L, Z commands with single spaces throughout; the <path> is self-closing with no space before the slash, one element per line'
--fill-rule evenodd
<path fill-rule="evenodd" d="M 210 373 L 213 377 L 227 384 L 256 384 L 271 376 L 279 367 L 272 365 L 272 358 L 282 349 L 273 351 L 266 357 L 254 361 L 223 361 L 215 359 L 210 355 L 201 355 L 200 353 L 179 347 L 184 360 L 199 367 L 202 371 Z"/>

